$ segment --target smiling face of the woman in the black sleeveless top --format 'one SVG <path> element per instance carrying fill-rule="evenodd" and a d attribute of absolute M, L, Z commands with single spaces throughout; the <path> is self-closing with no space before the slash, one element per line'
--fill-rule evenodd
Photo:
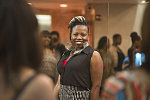
<path fill-rule="evenodd" d="M 88 42 L 88 28 L 85 25 L 76 25 L 72 29 L 71 42 L 77 49 L 82 49 L 83 44 Z"/>

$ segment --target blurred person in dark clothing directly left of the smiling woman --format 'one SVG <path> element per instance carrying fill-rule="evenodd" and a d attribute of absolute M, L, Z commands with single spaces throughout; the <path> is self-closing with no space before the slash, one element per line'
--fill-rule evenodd
<path fill-rule="evenodd" d="M 51 42 L 50 42 L 50 49 L 55 51 L 56 58 L 59 60 L 63 53 L 66 51 L 65 46 L 60 43 L 60 36 L 57 31 L 50 32 L 51 34 Z"/>

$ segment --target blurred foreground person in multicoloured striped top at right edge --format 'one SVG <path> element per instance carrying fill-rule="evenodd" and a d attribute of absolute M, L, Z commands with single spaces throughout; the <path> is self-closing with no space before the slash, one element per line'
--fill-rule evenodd
<path fill-rule="evenodd" d="M 145 62 L 137 69 L 110 77 L 104 86 L 102 100 L 150 100 L 150 4 L 144 13 L 141 29 L 141 51 Z"/>

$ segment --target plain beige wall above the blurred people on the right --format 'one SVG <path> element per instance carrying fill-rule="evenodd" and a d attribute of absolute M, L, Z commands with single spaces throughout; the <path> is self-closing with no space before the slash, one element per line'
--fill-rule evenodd
<path fill-rule="evenodd" d="M 109 9 L 109 11 L 108 11 Z M 130 33 L 133 31 L 137 5 L 136 4 L 95 4 L 95 14 L 101 14 L 102 20 L 95 21 L 94 48 L 101 36 L 107 35 L 112 44 L 112 36 L 119 33 L 122 36 L 120 45 L 124 54 L 131 46 Z"/>

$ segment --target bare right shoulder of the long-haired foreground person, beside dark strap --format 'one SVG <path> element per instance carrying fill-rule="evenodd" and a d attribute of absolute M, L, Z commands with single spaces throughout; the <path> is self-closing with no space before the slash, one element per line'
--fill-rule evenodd
<path fill-rule="evenodd" d="M 54 100 L 53 89 L 52 79 L 39 74 L 26 88 L 20 100 Z"/>

